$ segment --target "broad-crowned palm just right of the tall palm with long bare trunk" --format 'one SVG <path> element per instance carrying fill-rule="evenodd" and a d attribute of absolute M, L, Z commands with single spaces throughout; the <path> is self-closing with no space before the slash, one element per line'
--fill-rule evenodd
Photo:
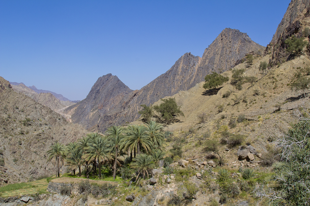
<path fill-rule="evenodd" d="M 147 128 L 144 125 L 129 126 L 126 131 L 126 138 L 124 139 L 125 150 L 130 149 L 140 154 L 140 148 L 144 148 L 146 152 L 150 151 L 153 147 L 153 142 L 148 135 Z"/>

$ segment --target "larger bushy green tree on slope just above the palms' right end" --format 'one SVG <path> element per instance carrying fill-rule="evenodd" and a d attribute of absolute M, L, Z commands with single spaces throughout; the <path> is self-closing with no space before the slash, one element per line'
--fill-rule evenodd
<path fill-rule="evenodd" d="M 183 112 L 180 110 L 180 107 L 175 102 L 175 98 L 161 99 L 163 103 L 159 106 L 154 106 L 155 111 L 161 114 L 161 117 L 166 122 L 169 122 L 175 116 L 184 116 Z"/>

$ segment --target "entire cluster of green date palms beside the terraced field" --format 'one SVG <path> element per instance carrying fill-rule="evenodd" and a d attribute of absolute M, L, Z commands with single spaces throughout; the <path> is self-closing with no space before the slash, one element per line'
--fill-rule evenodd
<path fill-rule="evenodd" d="M 56 177 L 60 176 L 60 167 L 69 166 L 72 173 L 78 169 L 78 176 L 102 178 L 102 170 L 110 170 L 113 179 L 121 167 L 126 171 L 148 176 L 155 167 L 154 162 L 163 158 L 164 132 L 162 124 L 149 121 L 147 124 L 130 125 L 127 128 L 112 126 L 105 135 L 89 133 L 86 137 L 63 145 L 55 142 L 47 151 L 48 161 L 56 168 Z M 121 158 L 124 155 L 126 158 Z M 104 167 L 104 168 L 103 168 Z"/>

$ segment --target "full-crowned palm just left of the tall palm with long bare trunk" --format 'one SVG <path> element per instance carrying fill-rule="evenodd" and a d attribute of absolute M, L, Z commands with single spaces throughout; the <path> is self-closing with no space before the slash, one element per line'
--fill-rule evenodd
<path fill-rule="evenodd" d="M 98 161 L 99 178 L 101 179 L 101 161 L 104 162 L 109 158 L 109 148 L 107 141 L 102 135 L 97 135 L 94 140 L 91 140 L 87 148 L 86 158 L 92 161 Z"/>

